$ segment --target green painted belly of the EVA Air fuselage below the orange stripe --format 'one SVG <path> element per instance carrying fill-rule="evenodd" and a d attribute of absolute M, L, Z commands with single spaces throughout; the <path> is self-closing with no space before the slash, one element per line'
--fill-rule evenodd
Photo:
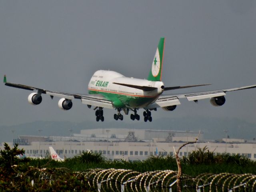
<path fill-rule="evenodd" d="M 116 94 L 102 91 L 92 91 L 89 90 L 89 94 L 101 94 L 108 100 L 113 102 L 114 107 L 116 108 L 142 108 L 148 106 L 152 103 L 155 98 L 148 97 L 136 97 L 136 96 L 128 96 L 124 94 Z"/>

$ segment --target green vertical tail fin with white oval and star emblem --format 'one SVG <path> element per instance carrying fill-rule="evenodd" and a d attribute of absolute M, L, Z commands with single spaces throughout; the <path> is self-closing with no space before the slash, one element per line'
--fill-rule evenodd
<path fill-rule="evenodd" d="M 156 49 L 156 54 L 152 63 L 151 70 L 148 75 L 149 81 L 162 80 L 162 64 L 164 60 L 164 37 L 161 37 Z"/>

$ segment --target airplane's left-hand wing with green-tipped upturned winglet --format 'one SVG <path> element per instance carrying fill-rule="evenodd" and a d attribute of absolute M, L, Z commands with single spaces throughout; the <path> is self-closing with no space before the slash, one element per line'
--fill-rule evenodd
<path fill-rule="evenodd" d="M 4 78 L 4 84 L 10 87 L 36 91 L 38 94 L 50 95 L 51 98 L 56 96 L 56 97 L 65 98 L 68 100 L 80 99 L 82 101 L 82 104 L 98 106 L 103 108 L 110 108 L 110 109 L 114 108 L 110 100 L 107 100 L 103 96 L 99 96 L 99 95 L 84 95 L 84 94 L 59 92 L 59 91 L 46 90 L 42 88 L 36 88 L 36 87 L 27 86 L 23 84 L 10 83 L 10 82 L 6 82 L 6 76 Z"/>

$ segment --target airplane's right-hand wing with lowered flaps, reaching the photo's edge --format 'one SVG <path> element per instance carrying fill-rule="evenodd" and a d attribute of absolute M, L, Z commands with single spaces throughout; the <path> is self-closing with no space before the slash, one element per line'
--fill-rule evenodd
<path fill-rule="evenodd" d="M 153 108 L 158 108 L 158 107 L 179 105 L 180 98 L 186 98 L 188 101 L 197 102 L 200 99 L 216 98 L 216 97 L 225 96 L 226 92 L 251 89 L 251 88 L 256 88 L 256 85 L 236 87 L 236 88 L 223 89 L 223 90 L 215 90 L 215 91 L 207 91 L 207 92 L 160 96 L 154 103 L 150 104 L 149 106 L 145 107 L 144 109 L 153 109 Z"/>

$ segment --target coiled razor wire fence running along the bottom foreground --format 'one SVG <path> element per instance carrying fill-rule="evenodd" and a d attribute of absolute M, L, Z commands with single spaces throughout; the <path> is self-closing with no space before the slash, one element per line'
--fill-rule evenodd
<path fill-rule="evenodd" d="M 18 169 L 14 168 L 14 170 Z M 34 168 L 1 176 L 0 191 L 73 190 L 98 192 L 174 192 L 177 172 L 159 170 L 140 173 L 125 169 L 88 169 L 72 172 L 67 168 Z M 181 176 L 184 192 L 255 192 L 254 174 L 200 174 Z"/>

